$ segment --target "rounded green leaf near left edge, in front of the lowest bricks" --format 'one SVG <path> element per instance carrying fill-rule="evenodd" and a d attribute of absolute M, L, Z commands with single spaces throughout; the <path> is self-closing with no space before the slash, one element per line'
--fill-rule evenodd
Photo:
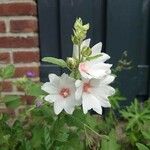
<path fill-rule="evenodd" d="M 21 104 L 20 96 L 8 95 L 4 97 L 4 103 L 9 108 L 17 108 Z"/>

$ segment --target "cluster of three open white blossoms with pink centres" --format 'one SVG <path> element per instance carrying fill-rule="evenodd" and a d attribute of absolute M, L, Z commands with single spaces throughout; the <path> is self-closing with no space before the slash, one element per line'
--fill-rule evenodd
<path fill-rule="evenodd" d="M 80 49 L 88 47 L 90 47 L 90 39 L 83 40 L 80 47 L 74 44 L 73 60 L 81 60 Z M 110 56 L 101 50 L 100 42 L 90 49 L 90 58 L 93 59 L 83 57 L 78 65 L 74 65 L 74 70 L 79 72 L 80 78 L 65 73 L 61 76 L 49 74 L 50 82 L 44 83 L 42 90 L 48 93 L 44 99 L 54 103 L 55 114 L 58 115 L 63 110 L 72 114 L 75 107 L 80 105 L 85 114 L 91 109 L 102 114 L 102 107 L 111 107 L 108 97 L 115 93 L 114 88 L 110 86 L 115 76 L 111 74 L 112 65 L 106 63 Z"/>

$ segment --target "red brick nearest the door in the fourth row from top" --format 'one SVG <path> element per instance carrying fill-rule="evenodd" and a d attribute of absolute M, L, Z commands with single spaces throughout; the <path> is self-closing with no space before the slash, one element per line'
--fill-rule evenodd
<path fill-rule="evenodd" d="M 14 63 L 39 62 L 39 52 L 14 52 Z"/>

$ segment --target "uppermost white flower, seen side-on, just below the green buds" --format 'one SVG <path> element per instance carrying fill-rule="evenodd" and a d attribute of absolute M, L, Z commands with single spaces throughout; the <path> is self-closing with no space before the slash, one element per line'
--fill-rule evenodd
<path fill-rule="evenodd" d="M 84 40 L 81 44 L 81 49 L 83 47 L 89 47 L 90 45 L 90 39 Z M 90 61 L 84 61 L 79 64 L 79 71 L 83 78 L 102 78 L 106 76 L 107 74 L 111 73 L 111 64 L 104 63 L 106 60 L 110 58 L 109 55 L 102 53 L 102 43 L 99 42 L 96 45 L 94 45 L 92 48 L 92 56 L 100 55 L 100 57 L 97 57 Z M 79 56 L 79 48 L 77 45 L 74 45 L 73 48 L 73 57 L 78 58 Z"/>

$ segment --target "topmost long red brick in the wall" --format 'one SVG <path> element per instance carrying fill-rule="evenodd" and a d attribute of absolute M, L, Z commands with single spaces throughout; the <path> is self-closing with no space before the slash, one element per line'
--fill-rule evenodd
<path fill-rule="evenodd" d="M 36 13 L 36 5 L 33 3 L 0 4 L 0 16 L 34 16 Z"/>

